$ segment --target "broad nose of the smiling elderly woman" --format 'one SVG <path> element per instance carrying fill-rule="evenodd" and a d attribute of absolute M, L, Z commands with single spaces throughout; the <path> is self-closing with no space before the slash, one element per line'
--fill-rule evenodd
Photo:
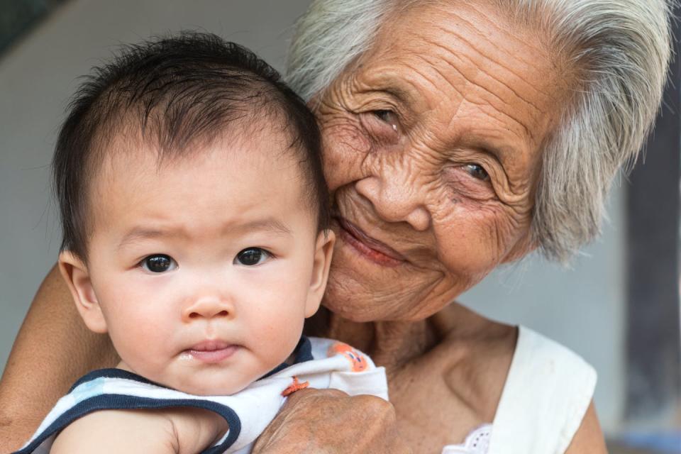
<path fill-rule="evenodd" d="M 422 203 L 423 188 L 399 173 L 384 171 L 382 175 L 370 175 L 355 183 L 355 189 L 385 221 L 406 222 L 416 231 L 426 231 L 431 225 L 431 214 Z"/>

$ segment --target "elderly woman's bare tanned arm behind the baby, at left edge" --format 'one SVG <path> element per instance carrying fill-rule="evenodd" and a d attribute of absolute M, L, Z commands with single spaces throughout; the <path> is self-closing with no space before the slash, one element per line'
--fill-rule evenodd
<path fill-rule="evenodd" d="M 117 362 L 109 337 L 84 326 L 59 270 L 52 267 L 35 294 L 0 380 L 0 452 L 28 441 L 78 377 Z"/>

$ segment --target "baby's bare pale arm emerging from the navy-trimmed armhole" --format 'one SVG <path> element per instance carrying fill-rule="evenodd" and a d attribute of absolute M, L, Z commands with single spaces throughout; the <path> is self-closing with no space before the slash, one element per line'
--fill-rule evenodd
<path fill-rule="evenodd" d="M 196 454 L 226 431 L 226 421 L 210 410 L 102 410 L 67 426 L 50 453 Z"/>

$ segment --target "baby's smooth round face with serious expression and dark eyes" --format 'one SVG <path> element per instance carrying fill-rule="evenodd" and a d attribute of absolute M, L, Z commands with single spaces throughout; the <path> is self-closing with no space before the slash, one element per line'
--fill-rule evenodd
<path fill-rule="evenodd" d="M 89 265 L 73 281 L 120 367 L 233 394 L 289 357 L 319 307 L 331 244 L 284 138 L 225 139 L 160 168 L 153 151 L 135 150 L 101 174 Z"/>

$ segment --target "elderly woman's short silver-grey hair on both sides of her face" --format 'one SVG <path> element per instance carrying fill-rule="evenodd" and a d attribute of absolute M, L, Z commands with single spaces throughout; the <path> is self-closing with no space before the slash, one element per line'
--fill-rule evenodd
<path fill-rule="evenodd" d="M 611 182 L 633 165 L 653 124 L 671 55 L 672 0 L 492 1 L 544 33 L 578 76 L 572 106 L 544 145 L 531 227 L 543 255 L 566 263 L 600 233 Z M 411 4 L 312 1 L 297 23 L 287 82 L 306 101 L 323 94 L 385 19 Z"/>

